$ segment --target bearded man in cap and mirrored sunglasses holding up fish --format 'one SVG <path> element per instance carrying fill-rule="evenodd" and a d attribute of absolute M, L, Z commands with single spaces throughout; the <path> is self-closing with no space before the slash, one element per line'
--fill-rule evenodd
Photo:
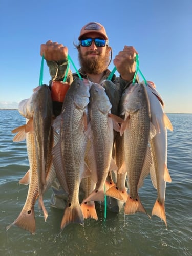
<path fill-rule="evenodd" d="M 94 83 L 101 83 L 111 73 L 108 66 L 112 60 L 112 49 L 109 46 L 109 39 L 105 28 L 98 22 L 90 22 L 82 27 L 78 40 L 79 42 L 75 47 L 78 50 L 78 59 L 81 67 L 79 73 L 81 77 Z M 49 40 L 46 44 L 41 45 L 40 54 L 41 56 L 44 54 L 49 67 L 51 88 L 52 81 L 63 81 L 68 64 L 68 48 L 62 44 L 58 44 L 58 42 Z M 120 76 L 116 77 L 114 74 L 112 83 L 109 83 L 109 86 L 105 88 L 106 94 L 112 104 L 112 114 L 118 115 L 121 94 L 133 81 L 136 71 L 136 54 L 137 51 L 133 46 L 124 46 L 124 49 L 113 60 Z M 69 69 L 66 81 L 71 83 L 76 77 L 78 77 L 78 74 L 72 74 Z M 136 82 L 138 82 L 138 78 Z M 53 101 L 53 112 L 55 116 L 60 114 L 61 108 L 62 102 Z M 58 180 L 55 180 L 52 189 L 51 205 L 56 208 L 65 208 L 67 195 L 62 190 Z M 119 212 L 122 205 L 122 201 L 114 198 L 111 198 L 110 202 L 108 201 L 110 210 L 114 212 Z"/>

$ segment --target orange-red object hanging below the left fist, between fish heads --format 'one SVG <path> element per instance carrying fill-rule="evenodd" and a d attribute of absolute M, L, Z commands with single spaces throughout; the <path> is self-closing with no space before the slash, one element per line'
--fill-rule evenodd
<path fill-rule="evenodd" d="M 52 81 L 52 84 L 51 84 L 52 100 L 63 102 L 69 87 L 70 87 L 70 84 L 67 82 Z"/>

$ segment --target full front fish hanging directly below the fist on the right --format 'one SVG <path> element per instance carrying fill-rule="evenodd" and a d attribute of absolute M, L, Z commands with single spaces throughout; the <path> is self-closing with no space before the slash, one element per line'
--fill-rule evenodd
<path fill-rule="evenodd" d="M 120 114 L 125 115 L 125 123 L 121 125 L 120 134 L 124 131 L 124 158 L 129 182 L 129 195 L 124 213 L 145 212 L 147 214 L 138 195 L 150 134 L 150 106 L 143 84 L 130 85 L 125 90 L 120 109 Z"/>

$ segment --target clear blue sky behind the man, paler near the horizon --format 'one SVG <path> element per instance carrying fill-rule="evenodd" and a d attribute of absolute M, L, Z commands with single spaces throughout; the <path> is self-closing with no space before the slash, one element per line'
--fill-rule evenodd
<path fill-rule="evenodd" d="M 49 39 L 66 45 L 79 68 L 73 42 L 83 25 L 97 21 L 113 57 L 124 45 L 136 48 L 140 70 L 155 82 L 165 112 L 192 113 L 191 0 L 0 0 L 0 10 L 0 108 L 31 96 L 39 82 L 40 45 Z M 49 80 L 45 63 L 44 83 Z"/>

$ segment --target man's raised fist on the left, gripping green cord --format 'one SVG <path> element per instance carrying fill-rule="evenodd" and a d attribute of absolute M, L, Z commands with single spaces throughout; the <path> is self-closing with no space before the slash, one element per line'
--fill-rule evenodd
<path fill-rule="evenodd" d="M 46 44 L 40 46 L 40 55 L 46 60 L 60 61 L 66 60 L 68 56 L 68 48 L 58 42 L 52 42 L 51 40 L 47 41 Z"/>

